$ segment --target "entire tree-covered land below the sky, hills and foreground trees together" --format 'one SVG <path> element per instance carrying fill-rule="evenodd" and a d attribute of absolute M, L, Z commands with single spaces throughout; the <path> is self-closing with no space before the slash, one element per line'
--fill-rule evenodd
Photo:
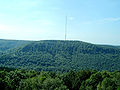
<path fill-rule="evenodd" d="M 120 90 L 115 46 L 0 40 L 0 66 L 0 90 Z"/>

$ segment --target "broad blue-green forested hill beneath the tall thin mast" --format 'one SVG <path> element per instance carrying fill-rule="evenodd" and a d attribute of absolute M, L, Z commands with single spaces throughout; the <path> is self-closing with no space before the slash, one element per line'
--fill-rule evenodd
<path fill-rule="evenodd" d="M 81 41 L 34 41 L 0 56 L 0 65 L 44 71 L 120 71 L 120 49 Z"/>

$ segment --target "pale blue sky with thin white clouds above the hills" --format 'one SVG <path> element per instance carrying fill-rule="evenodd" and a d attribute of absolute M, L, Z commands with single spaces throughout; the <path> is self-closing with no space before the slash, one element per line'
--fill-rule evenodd
<path fill-rule="evenodd" d="M 120 45 L 120 0 L 0 0 L 0 39 Z"/>

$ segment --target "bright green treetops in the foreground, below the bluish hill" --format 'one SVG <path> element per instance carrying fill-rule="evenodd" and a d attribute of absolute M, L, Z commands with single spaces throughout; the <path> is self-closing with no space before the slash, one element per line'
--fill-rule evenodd
<path fill-rule="evenodd" d="M 0 68 L 0 90 L 120 90 L 120 72 L 60 73 Z"/>

